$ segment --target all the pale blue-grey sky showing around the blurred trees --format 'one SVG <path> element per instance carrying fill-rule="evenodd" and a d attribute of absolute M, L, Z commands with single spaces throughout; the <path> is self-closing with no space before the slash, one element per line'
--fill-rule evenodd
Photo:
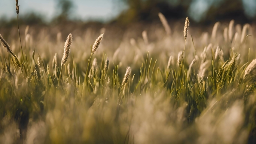
<path fill-rule="evenodd" d="M 57 0 L 19 0 L 20 15 L 28 12 L 39 12 L 46 20 L 51 20 L 57 15 Z M 117 0 L 72 0 L 74 3 L 74 19 L 108 21 L 124 10 L 125 6 L 116 4 Z M 170 2 L 179 0 L 169 0 Z M 213 5 L 218 5 L 223 0 L 192 0 L 188 14 L 195 20 L 204 18 L 207 10 Z M 248 17 L 256 16 L 256 0 L 242 0 L 244 12 Z M 0 0 L 0 18 L 16 16 L 15 0 Z"/>

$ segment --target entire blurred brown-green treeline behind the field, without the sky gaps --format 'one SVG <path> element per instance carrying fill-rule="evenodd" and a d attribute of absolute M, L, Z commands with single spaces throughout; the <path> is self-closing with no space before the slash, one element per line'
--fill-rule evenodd
<path fill-rule="evenodd" d="M 71 0 L 56 0 L 57 1 L 57 16 L 51 21 L 46 21 L 43 15 L 39 13 L 27 13 L 20 17 L 20 24 L 25 25 L 49 25 L 49 24 L 63 24 L 65 22 L 83 22 L 80 19 L 70 19 L 70 14 L 73 12 L 74 4 Z M 205 12 L 200 15 L 192 12 L 196 0 L 115 0 L 117 5 L 121 1 L 128 6 L 115 19 L 109 23 L 116 24 L 131 24 L 134 22 L 152 22 L 158 20 L 158 13 L 161 12 L 169 20 L 184 19 L 186 16 L 196 15 L 200 17 L 195 19 L 195 22 L 201 24 L 208 24 L 216 21 L 235 21 L 240 23 L 253 22 L 256 17 L 246 15 L 244 10 L 244 0 L 212 0 L 208 1 Z M 198 9 L 200 11 L 200 9 Z M 248 10 L 247 10 L 248 11 Z M 0 26 L 12 27 L 16 25 L 16 18 L 13 19 L 0 19 Z M 193 18 L 191 18 L 193 21 Z"/>

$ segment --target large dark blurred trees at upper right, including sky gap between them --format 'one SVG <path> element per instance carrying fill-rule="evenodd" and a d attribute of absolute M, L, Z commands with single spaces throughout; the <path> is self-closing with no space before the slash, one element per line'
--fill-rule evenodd
<path fill-rule="evenodd" d="M 196 22 L 211 23 L 235 19 L 241 23 L 250 22 L 253 18 L 245 13 L 246 0 L 119 0 L 128 9 L 119 15 L 117 22 L 129 24 L 136 21 L 158 19 L 158 12 L 167 19 L 180 19 L 189 16 Z M 253 4 L 254 0 L 250 0 Z M 249 2 L 247 2 L 248 5 Z M 250 4 L 249 3 L 249 4 Z M 251 7 L 253 9 L 253 7 Z M 247 10 L 248 11 L 248 10 Z M 248 12 L 247 12 L 248 13 Z M 255 19 L 255 17 L 254 17 Z"/>

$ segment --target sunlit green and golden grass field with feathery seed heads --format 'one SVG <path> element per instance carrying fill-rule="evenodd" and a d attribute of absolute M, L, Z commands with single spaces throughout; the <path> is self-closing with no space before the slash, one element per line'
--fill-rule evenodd
<path fill-rule="evenodd" d="M 0 143 L 255 143 L 255 25 L 159 17 L 2 34 Z"/>

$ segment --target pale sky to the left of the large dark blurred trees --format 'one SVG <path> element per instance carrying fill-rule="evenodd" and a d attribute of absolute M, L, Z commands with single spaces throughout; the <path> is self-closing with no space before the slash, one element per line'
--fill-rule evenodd
<path fill-rule="evenodd" d="M 72 0 L 75 8 L 74 14 L 78 18 L 109 20 L 117 16 L 123 9 L 117 7 L 114 0 Z M 16 16 L 15 0 L 0 0 L 0 18 Z M 56 0 L 19 0 L 19 14 L 39 12 L 47 19 L 56 15 Z"/>

